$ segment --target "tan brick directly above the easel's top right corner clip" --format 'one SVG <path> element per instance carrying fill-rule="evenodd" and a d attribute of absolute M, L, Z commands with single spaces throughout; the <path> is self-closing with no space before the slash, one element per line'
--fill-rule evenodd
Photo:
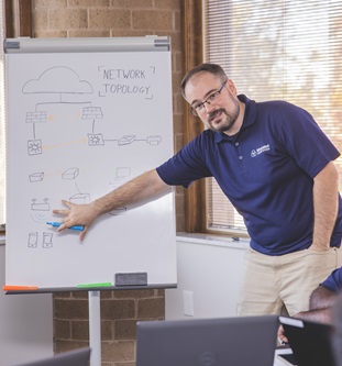
<path fill-rule="evenodd" d="M 172 30 L 173 13 L 170 11 L 140 10 L 132 12 L 133 27 L 144 30 Z"/>

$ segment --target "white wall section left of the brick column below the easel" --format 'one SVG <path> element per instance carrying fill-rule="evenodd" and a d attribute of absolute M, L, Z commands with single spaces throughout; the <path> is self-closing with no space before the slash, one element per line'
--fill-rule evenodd
<path fill-rule="evenodd" d="M 5 295 L 4 252 L 0 239 L 0 365 L 49 357 L 53 355 L 52 295 Z"/>

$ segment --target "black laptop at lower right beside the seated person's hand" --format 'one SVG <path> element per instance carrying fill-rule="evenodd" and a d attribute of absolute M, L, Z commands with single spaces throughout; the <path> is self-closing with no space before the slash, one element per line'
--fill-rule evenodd
<path fill-rule="evenodd" d="M 279 317 L 279 322 L 293 351 L 293 355 L 277 356 L 280 359 L 286 359 L 287 363 L 284 365 L 335 365 L 332 348 L 332 325 L 287 317 Z"/>

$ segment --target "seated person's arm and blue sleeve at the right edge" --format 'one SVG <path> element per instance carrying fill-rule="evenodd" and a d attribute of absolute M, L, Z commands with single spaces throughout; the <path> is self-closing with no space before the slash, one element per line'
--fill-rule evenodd
<path fill-rule="evenodd" d="M 310 296 L 310 308 L 300 311 L 294 318 L 319 323 L 333 323 L 333 309 L 342 290 L 342 267 L 334 269 L 331 275 L 320 284 Z M 279 341 L 287 343 L 283 326 L 278 330 Z"/>

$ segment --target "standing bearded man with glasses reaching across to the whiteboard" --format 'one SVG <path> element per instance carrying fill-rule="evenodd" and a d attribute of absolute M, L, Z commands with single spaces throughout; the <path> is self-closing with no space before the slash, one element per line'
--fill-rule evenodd
<path fill-rule="evenodd" d="M 84 240 L 106 212 L 213 176 L 251 236 L 239 313 L 307 310 L 313 288 L 337 267 L 340 153 L 308 112 L 238 96 L 219 65 L 195 67 L 181 91 L 207 130 L 162 166 L 89 204 L 63 201 L 67 209 L 54 210 L 65 215 L 58 231 L 81 224 Z"/>

